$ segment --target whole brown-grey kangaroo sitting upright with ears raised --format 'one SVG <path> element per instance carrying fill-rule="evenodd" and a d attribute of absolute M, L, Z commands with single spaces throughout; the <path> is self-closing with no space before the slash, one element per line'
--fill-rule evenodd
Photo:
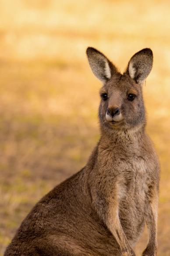
<path fill-rule="evenodd" d="M 152 51 L 138 51 L 123 74 L 95 48 L 87 57 L 103 82 L 99 142 L 84 168 L 34 206 L 5 256 L 135 256 L 145 223 L 142 256 L 157 254 L 159 161 L 142 97 Z"/>

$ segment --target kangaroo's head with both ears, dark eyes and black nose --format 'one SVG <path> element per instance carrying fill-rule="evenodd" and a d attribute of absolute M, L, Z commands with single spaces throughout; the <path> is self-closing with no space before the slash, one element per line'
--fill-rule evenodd
<path fill-rule="evenodd" d="M 149 48 L 138 51 L 121 74 L 103 53 L 87 48 L 90 67 L 103 82 L 100 89 L 99 119 L 102 128 L 131 129 L 145 124 L 142 84 L 152 69 Z"/>

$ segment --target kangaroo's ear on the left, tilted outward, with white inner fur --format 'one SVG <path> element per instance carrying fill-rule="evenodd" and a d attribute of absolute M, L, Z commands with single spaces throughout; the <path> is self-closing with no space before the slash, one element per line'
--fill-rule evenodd
<path fill-rule="evenodd" d="M 92 72 L 102 82 L 106 82 L 113 73 L 117 73 L 117 68 L 100 51 L 88 47 L 86 53 Z"/>

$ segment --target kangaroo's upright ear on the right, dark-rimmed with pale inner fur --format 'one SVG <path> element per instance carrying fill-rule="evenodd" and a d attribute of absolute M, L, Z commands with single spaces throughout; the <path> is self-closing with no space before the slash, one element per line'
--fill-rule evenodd
<path fill-rule="evenodd" d="M 138 51 L 133 55 L 128 63 L 126 73 L 135 80 L 137 84 L 142 82 L 148 77 L 151 72 L 153 64 L 153 53 L 149 48 Z"/>

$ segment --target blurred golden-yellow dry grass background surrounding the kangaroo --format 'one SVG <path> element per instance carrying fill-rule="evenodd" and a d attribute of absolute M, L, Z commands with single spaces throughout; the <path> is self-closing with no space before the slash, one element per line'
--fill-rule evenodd
<path fill-rule="evenodd" d="M 0 255 L 32 206 L 83 167 L 99 139 L 100 82 L 85 50 L 123 71 L 152 48 L 144 86 L 147 131 L 159 154 L 158 256 L 170 255 L 169 1 L 0 1 Z M 135 251 L 141 255 L 147 231 Z"/>

